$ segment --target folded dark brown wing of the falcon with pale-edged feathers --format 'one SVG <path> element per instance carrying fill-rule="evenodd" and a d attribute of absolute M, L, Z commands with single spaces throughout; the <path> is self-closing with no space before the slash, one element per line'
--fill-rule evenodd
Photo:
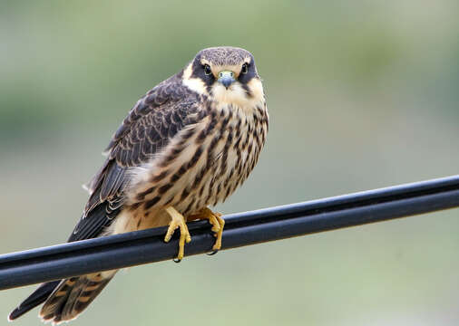
<path fill-rule="evenodd" d="M 105 150 L 108 158 L 88 185 L 90 198 L 69 242 L 100 235 L 118 215 L 128 170 L 147 163 L 186 125 L 195 122 L 200 97 L 181 83 L 181 73 L 149 91 L 129 112 Z"/>

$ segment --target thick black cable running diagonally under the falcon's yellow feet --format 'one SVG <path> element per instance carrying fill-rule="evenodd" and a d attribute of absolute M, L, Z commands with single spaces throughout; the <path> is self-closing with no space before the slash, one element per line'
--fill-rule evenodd
<path fill-rule="evenodd" d="M 459 206 L 459 175 L 225 216 L 222 250 L 364 225 Z M 111 235 L 0 256 L 0 290 L 172 259 L 178 235 L 167 227 Z M 185 255 L 211 251 L 206 221 L 189 224 Z M 183 264 L 183 263 L 181 263 Z"/>

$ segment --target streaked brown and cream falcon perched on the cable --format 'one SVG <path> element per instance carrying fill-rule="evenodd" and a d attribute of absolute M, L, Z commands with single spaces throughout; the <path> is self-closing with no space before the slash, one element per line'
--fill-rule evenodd
<path fill-rule="evenodd" d="M 211 47 L 136 102 L 86 185 L 89 199 L 68 242 L 168 225 L 180 231 L 176 261 L 191 240 L 187 222 L 206 219 L 221 248 L 224 219 L 213 212 L 249 176 L 269 130 L 263 85 L 249 51 Z M 39 317 L 72 321 L 117 271 L 42 283 L 8 319 L 44 303 Z"/>

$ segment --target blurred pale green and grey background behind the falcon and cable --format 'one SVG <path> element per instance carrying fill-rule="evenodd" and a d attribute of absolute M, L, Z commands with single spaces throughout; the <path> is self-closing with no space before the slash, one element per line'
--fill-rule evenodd
<path fill-rule="evenodd" d="M 0 41 L 1 253 L 65 241 L 127 111 L 208 46 L 255 55 L 271 121 L 220 211 L 458 173 L 454 0 L 2 1 Z M 457 325 L 458 216 L 132 268 L 73 325 Z"/>

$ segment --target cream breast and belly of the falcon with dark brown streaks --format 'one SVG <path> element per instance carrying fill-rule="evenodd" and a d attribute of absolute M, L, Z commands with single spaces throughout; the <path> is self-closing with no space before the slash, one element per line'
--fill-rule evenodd
<path fill-rule="evenodd" d="M 174 206 L 183 215 L 224 201 L 249 176 L 268 131 L 264 103 L 212 108 L 172 139 L 132 194 L 142 210 Z"/>

